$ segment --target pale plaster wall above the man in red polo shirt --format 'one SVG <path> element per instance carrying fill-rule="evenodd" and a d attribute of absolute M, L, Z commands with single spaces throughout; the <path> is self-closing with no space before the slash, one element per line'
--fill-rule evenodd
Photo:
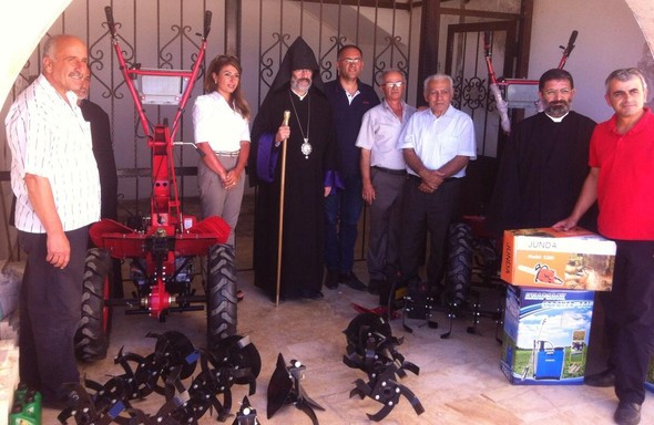
<path fill-rule="evenodd" d="M 646 2 L 651 0 L 641 1 Z M 606 120 L 612 114 L 604 101 L 606 76 L 615 69 L 636 66 L 646 45 L 627 4 L 616 0 L 535 0 L 533 14 L 529 76 L 538 79 L 556 68 L 562 52 L 559 45 L 565 45 L 572 30 L 578 30 L 576 46 L 565 64 L 576 89 L 573 108 L 595 121 Z"/>

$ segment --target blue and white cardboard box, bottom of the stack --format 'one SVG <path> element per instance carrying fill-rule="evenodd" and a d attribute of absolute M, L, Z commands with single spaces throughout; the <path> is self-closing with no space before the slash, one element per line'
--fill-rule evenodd
<path fill-rule="evenodd" d="M 508 286 L 502 372 L 515 385 L 580 385 L 593 291 Z"/>

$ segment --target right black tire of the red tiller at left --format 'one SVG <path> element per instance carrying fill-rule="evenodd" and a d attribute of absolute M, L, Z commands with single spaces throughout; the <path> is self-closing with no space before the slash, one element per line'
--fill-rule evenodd
<path fill-rule="evenodd" d="M 208 250 L 207 278 L 207 348 L 219 346 L 221 340 L 236 334 L 236 269 L 234 248 L 214 245 Z"/>

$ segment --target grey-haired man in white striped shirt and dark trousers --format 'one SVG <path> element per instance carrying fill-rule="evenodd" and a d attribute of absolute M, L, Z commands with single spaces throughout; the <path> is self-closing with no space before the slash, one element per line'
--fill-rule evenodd
<path fill-rule="evenodd" d="M 91 131 L 76 104 L 88 50 L 61 34 L 43 46 L 42 73 L 4 121 L 16 227 L 28 255 L 20 305 L 20 379 L 61 408 L 61 384 L 79 382 L 73 336 L 80 320 L 88 227 L 100 218 Z"/>

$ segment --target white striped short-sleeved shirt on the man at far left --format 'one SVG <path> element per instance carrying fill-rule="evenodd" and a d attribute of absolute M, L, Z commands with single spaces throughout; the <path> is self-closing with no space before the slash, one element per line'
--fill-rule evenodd
<path fill-rule="evenodd" d="M 49 179 L 64 231 L 100 218 L 100 177 L 90 125 L 76 105 L 74 93 L 67 95 L 70 105 L 40 75 L 19 94 L 4 120 L 19 230 L 45 232 L 30 203 L 25 174 Z"/>

